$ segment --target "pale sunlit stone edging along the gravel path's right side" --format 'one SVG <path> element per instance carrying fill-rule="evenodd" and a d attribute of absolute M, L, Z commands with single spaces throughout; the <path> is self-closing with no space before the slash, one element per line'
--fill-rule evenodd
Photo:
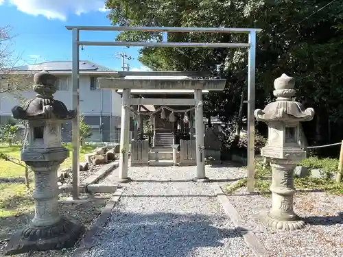
<path fill-rule="evenodd" d="M 213 184 L 213 190 L 218 200 L 222 204 L 222 207 L 226 212 L 226 215 L 228 215 L 230 220 L 233 221 L 233 224 L 236 226 L 237 231 L 241 234 L 241 236 L 243 236 L 244 241 L 246 242 L 248 247 L 250 247 L 255 256 L 268 256 L 267 249 L 265 249 L 265 247 L 259 241 L 257 236 L 251 230 L 244 228 L 244 221 L 241 220 L 241 218 L 239 217 L 239 213 L 237 212 L 235 207 L 230 203 L 228 197 L 226 197 L 226 195 L 222 191 L 222 188 L 220 188 L 219 184 Z"/>

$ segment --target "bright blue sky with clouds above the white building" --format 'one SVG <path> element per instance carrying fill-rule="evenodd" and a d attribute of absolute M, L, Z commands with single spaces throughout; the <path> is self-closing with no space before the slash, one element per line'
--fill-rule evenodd
<path fill-rule="evenodd" d="M 9 25 L 13 38 L 10 49 L 20 64 L 71 60 L 71 32 L 65 25 L 110 25 L 101 0 L 0 0 L 0 27 Z M 80 40 L 112 41 L 118 32 L 80 32 Z M 145 71 L 137 57 L 138 47 L 91 47 L 80 50 L 80 60 L 121 70 L 116 53 L 124 51 L 131 71 Z"/>

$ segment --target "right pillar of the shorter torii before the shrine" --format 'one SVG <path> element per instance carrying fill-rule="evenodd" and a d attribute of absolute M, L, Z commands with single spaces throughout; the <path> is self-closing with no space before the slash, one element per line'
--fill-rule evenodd
<path fill-rule="evenodd" d="M 205 175 L 204 162 L 204 120 L 202 111 L 202 90 L 194 90 L 196 99 L 196 180 L 206 182 L 209 179 Z"/>

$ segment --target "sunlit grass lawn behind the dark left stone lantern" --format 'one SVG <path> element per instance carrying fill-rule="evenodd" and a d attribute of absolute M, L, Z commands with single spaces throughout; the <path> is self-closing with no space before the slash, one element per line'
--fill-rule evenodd
<path fill-rule="evenodd" d="M 64 145 L 70 151 L 69 158 L 64 160 L 60 168 L 71 167 L 71 144 Z M 7 147 L 0 145 L 0 151 L 14 158 L 20 159 L 20 146 Z M 80 150 L 80 161 L 84 161 L 84 154 L 91 152 L 95 146 L 85 146 Z M 18 216 L 34 210 L 32 191 L 34 174 L 30 172 L 30 188 L 25 186 L 25 169 L 17 164 L 0 160 L 0 218 Z M 7 181 L 5 181 L 7 180 Z"/>

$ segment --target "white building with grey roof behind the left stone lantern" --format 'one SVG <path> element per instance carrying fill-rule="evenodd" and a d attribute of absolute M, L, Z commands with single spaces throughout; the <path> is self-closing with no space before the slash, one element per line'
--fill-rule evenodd
<path fill-rule="evenodd" d="M 71 61 L 43 62 L 15 67 L 13 70 L 14 73 L 28 75 L 45 70 L 56 75 L 58 91 L 54 97 L 72 109 Z M 105 66 L 80 61 L 80 113 L 84 115 L 84 122 L 93 128 L 92 141 L 119 141 L 121 96 L 115 90 L 99 89 L 97 82 L 97 77 L 111 77 L 115 74 L 117 71 Z M 33 82 L 33 77 L 29 79 Z M 26 99 L 35 97 L 32 89 L 16 94 Z M 7 123 L 12 116 L 12 108 L 19 104 L 19 99 L 13 93 L 0 94 L 0 122 Z M 62 136 L 64 141 L 71 140 L 71 121 L 62 125 Z"/>

